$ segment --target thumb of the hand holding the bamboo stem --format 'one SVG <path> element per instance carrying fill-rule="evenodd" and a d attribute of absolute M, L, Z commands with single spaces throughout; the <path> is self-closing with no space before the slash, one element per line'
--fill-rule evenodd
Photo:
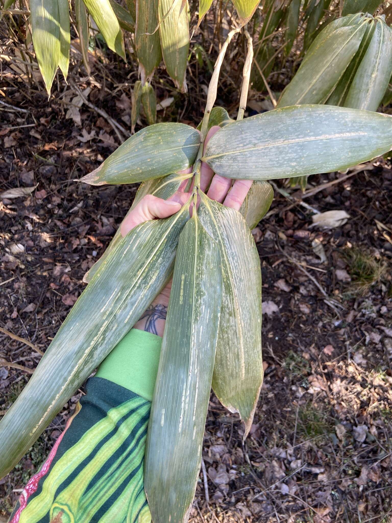
<path fill-rule="evenodd" d="M 166 201 L 153 195 L 144 196 L 135 208 L 126 216 L 121 224 L 121 235 L 125 236 L 136 225 L 154 220 L 168 218 L 181 209 L 181 204 L 175 201 Z"/>

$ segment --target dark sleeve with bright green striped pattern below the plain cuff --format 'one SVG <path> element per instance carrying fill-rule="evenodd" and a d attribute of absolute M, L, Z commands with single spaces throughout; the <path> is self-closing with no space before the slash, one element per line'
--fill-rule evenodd
<path fill-rule="evenodd" d="M 87 381 L 9 523 L 149 523 L 143 463 L 151 403 L 105 378 Z"/>

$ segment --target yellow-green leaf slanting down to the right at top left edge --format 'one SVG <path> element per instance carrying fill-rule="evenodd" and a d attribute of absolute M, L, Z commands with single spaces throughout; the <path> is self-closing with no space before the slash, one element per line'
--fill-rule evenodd
<path fill-rule="evenodd" d="M 108 48 L 125 60 L 124 38 L 109 0 L 84 0 Z"/>

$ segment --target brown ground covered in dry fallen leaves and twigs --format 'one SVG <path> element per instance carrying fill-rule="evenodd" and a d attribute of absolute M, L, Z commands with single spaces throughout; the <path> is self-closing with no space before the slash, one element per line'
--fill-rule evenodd
<path fill-rule="evenodd" d="M 49 103 L 22 85 L 7 94 L 25 112 L 0 111 L 0 327 L 45 350 L 137 186 L 74 181 L 116 149 L 116 134 L 65 84 Z M 128 129 L 129 85 L 91 85 L 85 95 Z M 170 110 L 181 107 L 179 120 L 197 125 L 202 106 L 192 96 L 184 98 L 187 106 L 175 95 Z M 257 104 L 264 107 L 253 100 L 253 110 Z M 305 195 L 290 189 L 292 201 L 275 190 L 253 231 L 263 276 L 265 379 L 245 442 L 238 416 L 211 395 L 207 489 L 201 473 L 190 521 L 392 521 L 392 170 L 379 159 L 357 171 L 314 176 Z M 350 218 L 317 229 L 309 207 L 344 210 Z M 30 346 L 2 333 L 0 340 L 1 359 L 30 371 L 37 366 L 40 356 Z M 29 376 L 0 367 L 0 415 Z M 0 520 L 83 393 L 0 480 Z"/>

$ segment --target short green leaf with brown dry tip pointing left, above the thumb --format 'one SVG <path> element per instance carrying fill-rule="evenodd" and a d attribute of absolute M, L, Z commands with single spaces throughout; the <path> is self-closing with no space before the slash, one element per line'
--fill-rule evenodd
<path fill-rule="evenodd" d="M 128 138 L 80 181 L 90 185 L 133 184 L 193 165 L 200 133 L 184 123 L 156 123 Z"/>

